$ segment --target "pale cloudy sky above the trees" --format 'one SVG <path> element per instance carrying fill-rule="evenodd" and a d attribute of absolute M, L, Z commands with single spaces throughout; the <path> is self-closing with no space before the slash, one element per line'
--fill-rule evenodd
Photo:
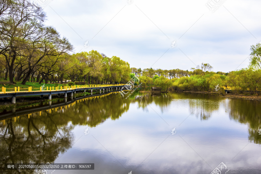
<path fill-rule="evenodd" d="M 74 52 L 97 50 L 131 67 L 230 72 L 261 41 L 258 0 L 35 0 Z"/>

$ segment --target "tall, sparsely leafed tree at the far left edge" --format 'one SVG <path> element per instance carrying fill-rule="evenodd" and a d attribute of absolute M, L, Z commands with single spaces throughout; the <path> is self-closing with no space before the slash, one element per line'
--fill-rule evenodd
<path fill-rule="evenodd" d="M 5 56 L 9 80 L 14 83 L 14 62 L 22 54 L 27 39 L 35 37 L 35 31 L 43 26 L 46 15 L 41 7 L 26 0 L 13 1 L 4 8 L 9 12 L 1 14 L 0 54 Z"/>

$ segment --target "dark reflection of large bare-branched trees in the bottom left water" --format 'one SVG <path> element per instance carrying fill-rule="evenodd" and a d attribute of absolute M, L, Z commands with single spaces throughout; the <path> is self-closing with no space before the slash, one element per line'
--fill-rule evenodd
<path fill-rule="evenodd" d="M 0 173 L 34 173 L 33 170 L 6 170 L 5 163 L 47 163 L 71 147 L 72 126 L 53 121 L 48 112 L 6 120 L 0 129 Z"/>

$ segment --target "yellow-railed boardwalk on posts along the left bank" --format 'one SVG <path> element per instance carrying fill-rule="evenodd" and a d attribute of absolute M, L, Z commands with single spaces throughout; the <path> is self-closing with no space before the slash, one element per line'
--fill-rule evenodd
<path fill-rule="evenodd" d="M 70 93 L 71 96 L 73 96 L 73 93 L 76 93 L 76 91 L 84 91 L 86 92 L 86 90 L 90 90 L 91 95 L 93 95 L 93 90 L 96 89 L 100 91 L 100 94 L 102 92 L 103 89 L 103 93 L 104 90 L 106 90 L 106 92 L 108 92 L 108 90 L 111 91 L 113 89 L 116 89 L 116 91 L 119 89 L 123 89 L 123 87 L 126 84 L 119 84 L 119 85 L 74 85 L 74 86 L 64 86 L 64 87 L 50 87 L 50 89 L 48 89 L 48 87 L 46 87 L 46 90 L 42 90 L 42 87 L 40 87 L 39 91 L 32 91 L 32 87 L 28 87 L 28 91 L 20 91 L 20 88 L 15 87 L 14 91 L 6 91 L 5 87 L 2 87 L 2 92 L 0 92 L 0 98 L 7 98 L 7 97 L 12 97 L 12 103 L 15 103 L 15 97 L 17 96 L 40 96 L 41 98 L 43 98 L 44 95 L 48 95 L 48 99 L 52 100 L 52 94 L 58 94 L 58 96 L 60 96 L 60 94 L 64 94 L 64 98 L 67 98 L 67 93 Z M 130 85 L 126 85 L 126 87 L 128 87 Z"/>

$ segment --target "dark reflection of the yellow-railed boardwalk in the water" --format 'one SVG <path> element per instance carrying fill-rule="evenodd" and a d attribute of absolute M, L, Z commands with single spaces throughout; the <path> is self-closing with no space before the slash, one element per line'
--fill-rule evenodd
<path fill-rule="evenodd" d="M 92 96 L 81 96 L 81 97 L 70 97 L 70 100 L 67 101 L 67 98 L 64 98 L 64 101 L 62 102 L 55 102 L 52 104 L 51 101 L 48 102 L 48 104 L 44 104 L 41 106 L 33 106 L 30 108 L 26 108 L 26 109 L 19 109 L 16 110 L 15 108 L 12 108 L 12 111 L 7 111 L 4 113 L 0 113 L 0 121 L 5 123 L 5 119 L 7 118 L 14 118 L 16 120 L 16 117 L 19 118 L 19 116 L 28 116 L 28 118 L 30 118 L 30 116 L 32 115 L 32 113 L 35 112 L 40 112 L 41 115 L 41 111 L 48 111 L 50 113 L 51 110 L 59 110 L 59 109 L 67 109 L 67 107 L 69 108 L 70 106 L 73 106 L 76 104 L 76 102 L 82 102 L 85 100 L 94 100 L 95 98 L 102 98 L 102 97 L 106 97 L 110 94 L 117 94 L 120 91 L 110 91 L 106 94 L 94 94 Z M 3 119 L 3 120 L 2 120 Z"/>

